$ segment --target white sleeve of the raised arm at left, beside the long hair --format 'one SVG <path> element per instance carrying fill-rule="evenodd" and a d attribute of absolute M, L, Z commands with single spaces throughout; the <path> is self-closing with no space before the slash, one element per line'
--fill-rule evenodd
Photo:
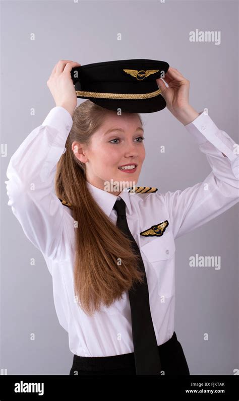
<path fill-rule="evenodd" d="M 66 226 L 72 217 L 52 191 L 56 164 L 66 151 L 72 124 L 65 108 L 52 108 L 11 157 L 5 181 L 8 205 L 25 235 L 52 259 L 67 256 Z"/>

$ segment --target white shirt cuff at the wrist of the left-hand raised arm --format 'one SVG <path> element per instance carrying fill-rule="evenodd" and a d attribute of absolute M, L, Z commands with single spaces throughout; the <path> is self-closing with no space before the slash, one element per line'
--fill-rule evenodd
<path fill-rule="evenodd" d="M 69 133 L 73 125 L 73 119 L 69 111 L 64 107 L 55 106 L 49 111 L 41 125 L 49 125 L 56 128 L 58 132 L 65 133 L 67 131 Z"/>

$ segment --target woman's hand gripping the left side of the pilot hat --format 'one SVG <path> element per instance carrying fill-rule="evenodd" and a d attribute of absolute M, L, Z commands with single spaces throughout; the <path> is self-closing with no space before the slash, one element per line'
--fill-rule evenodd
<path fill-rule="evenodd" d="M 71 77 L 73 67 L 80 66 L 71 60 L 59 60 L 47 81 L 47 86 L 54 98 L 56 106 L 64 107 L 71 116 L 77 106 L 77 96 Z"/>

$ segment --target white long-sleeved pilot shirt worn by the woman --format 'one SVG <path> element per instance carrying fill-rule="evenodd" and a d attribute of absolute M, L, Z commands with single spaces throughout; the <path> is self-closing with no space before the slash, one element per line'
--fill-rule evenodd
<path fill-rule="evenodd" d="M 66 151 L 72 123 L 65 108 L 54 107 L 42 125 L 23 141 L 7 169 L 8 205 L 27 238 L 45 258 L 52 276 L 56 313 L 59 323 L 69 333 L 72 353 L 88 357 L 131 353 L 134 347 L 128 292 L 122 300 L 108 308 L 102 307 L 92 317 L 75 301 L 74 219 L 71 209 L 54 193 L 56 163 Z M 125 200 L 128 225 L 145 265 L 158 345 L 168 341 L 174 331 L 175 238 L 219 216 L 239 200 L 239 156 L 235 142 L 203 112 L 185 127 L 212 168 L 203 182 L 175 192 L 123 191 L 120 196 L 87 182 L 94 199 L 114 224 L 115 200 L 120 197 Z M 162 236 L 140 235 L 165 220 L 169 224 Z"/>

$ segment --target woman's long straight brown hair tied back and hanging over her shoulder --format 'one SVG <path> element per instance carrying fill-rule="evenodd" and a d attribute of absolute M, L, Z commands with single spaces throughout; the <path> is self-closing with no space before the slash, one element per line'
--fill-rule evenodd
<path fill-rule="evenodd" d="M 99 311 L 101 303 L 108 307 L 120 300 L 134 283 L 143 282 L 139 256 L 133 252 L 131 241 L 95 202 L 86 183 L 86 165 L 72 150 L 74 141 L 86 146 L 90 143 L 107 114 L 107 109 L 89 99 L 75 109 L 66 152 L 57 163 L 55 175 L 56 195 L 72 205 L 72 217 L 78 222 L 74 291 L 81 308 L 89 315 Z"/>

